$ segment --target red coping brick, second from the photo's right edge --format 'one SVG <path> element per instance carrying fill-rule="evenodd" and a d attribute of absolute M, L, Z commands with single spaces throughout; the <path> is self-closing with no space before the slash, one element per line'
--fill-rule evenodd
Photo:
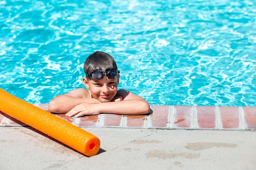
<path fill-rule="evenodd" d="M 241 129 L 239 107 L 219 107 L 222 129 Z"/>

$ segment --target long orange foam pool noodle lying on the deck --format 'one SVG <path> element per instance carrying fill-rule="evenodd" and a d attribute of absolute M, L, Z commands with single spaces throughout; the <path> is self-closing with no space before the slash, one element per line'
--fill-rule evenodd
<path fill-rule="evenodd" d="M 2 88 L 0 88 L 0 110 L 84 155 L 91 157 L 99 151 L 98 137 L 11 95 Z"/>

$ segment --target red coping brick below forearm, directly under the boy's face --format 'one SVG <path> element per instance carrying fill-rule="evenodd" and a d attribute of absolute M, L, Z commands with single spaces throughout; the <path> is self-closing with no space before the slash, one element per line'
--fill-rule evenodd
<path fill-rule="evenodd" d="M 123 115 L 116 115 L 116 114 L 103 114 L 104 127 L 122 127 L 122 117 Z"/>

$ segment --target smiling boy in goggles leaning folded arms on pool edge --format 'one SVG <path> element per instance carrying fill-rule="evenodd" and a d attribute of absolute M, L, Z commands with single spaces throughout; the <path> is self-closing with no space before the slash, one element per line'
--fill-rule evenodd
<path fill-rule="evenodd" d="M 111 55 L 96 51 L 88 56 L 83 70 L 84 88 L 78 88 L 65 95 L 54 97 L 49 103 L 52 113 L 66 113 L 66 116 L 80 117 L 115 113 L 142 115 L 150 112 L 146 100 L 130 91 L 117 90 L 119 73 Z"/>

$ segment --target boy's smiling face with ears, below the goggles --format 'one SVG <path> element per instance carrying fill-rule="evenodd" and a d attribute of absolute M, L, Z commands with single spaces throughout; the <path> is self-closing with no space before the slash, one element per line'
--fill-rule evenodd
<path fill-rule="evenodd" d="M 103 77 L 100 80 L 86 79 L 83 77 L 83 84 L 90 90 L 94 99 L 100 102 L 110 102 L 117 94 L 117 86 L 119 83 L 119 75 L 113 79 Z"/>

